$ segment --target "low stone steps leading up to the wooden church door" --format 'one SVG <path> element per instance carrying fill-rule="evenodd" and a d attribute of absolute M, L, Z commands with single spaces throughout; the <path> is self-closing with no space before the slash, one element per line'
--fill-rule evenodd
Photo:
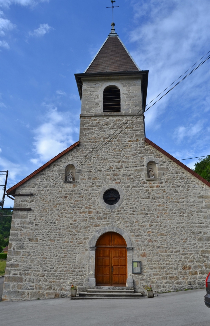
<path fill-rule="evenodd" d="M 87 289 L 87 292 L 80 292 L 78 296 L 71 297 L 71 300 L 85 299 L 134 299 L 141 298 L 141 293 L 134 293 L 134 290 L 126 288 L 100 287 L 99 289 Z"/>

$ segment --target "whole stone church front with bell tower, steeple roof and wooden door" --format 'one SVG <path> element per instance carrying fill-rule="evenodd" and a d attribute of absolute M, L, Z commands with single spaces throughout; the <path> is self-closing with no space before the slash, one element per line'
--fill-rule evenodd
<path fill-rule="evenodd" d="M 210 183 L 145 137 L 148 71 L 115 33 L 84 73 L 79 141 L 7 190 L 15 198 L 2 300 L 97 286 L 204 287 Z"/>

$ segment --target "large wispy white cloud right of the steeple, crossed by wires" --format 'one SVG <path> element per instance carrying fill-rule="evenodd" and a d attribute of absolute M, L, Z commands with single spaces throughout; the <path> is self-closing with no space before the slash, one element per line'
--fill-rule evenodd
<path fill-rule="evenodd" d="M 192 5 L 191 0 L 170 3 L 166 0 L 148 0 L 133 1 L 132 4 L 136 23 L 140 25 L 130 34 L 131 41 L 137 42 L 137 50 L 132 55 L 141 69 L 149 69 L 147 102 L 150 102 L 209 51 L 210 2 L 200 0 Z M 196 92 L 202 94 L 199 88 L 203 86 L 199 83 L 205 79 L 209 81 L 207 65 L 208 62 L 146 112 L 147 127 L 153 128 L 171 99 L 175 102 L 189 89 L 193 90 L 189 92 L 189 101 Z"/>

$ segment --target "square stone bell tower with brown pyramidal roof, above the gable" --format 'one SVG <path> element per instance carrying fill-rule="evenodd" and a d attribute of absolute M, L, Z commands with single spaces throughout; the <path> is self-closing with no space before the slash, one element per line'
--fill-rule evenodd
<path fill-rule="evenodd" d="M 115 32 L 114 22 L 111 26 L 87 69 L 75 74 L 82 102 L 80 146 L 87 150 L 119 128 L 124 129 L 115 138 L 119 146 L 145 138 L 148 71 L 140 70 Z"/>

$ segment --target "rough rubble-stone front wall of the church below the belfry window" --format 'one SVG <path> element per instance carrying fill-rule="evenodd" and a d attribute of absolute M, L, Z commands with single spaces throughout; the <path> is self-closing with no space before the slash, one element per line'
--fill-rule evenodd
<path fill-rule="evenodd" d="M 3 300 L 69 296 L 67 281 L 89 273 L 89 241 L 107 226 L 126 232 L 141 276 L 157 281 L 133 276 L 136 291 L 146 284 L 159 292 L 203 288 L 210 270 L 210 188 L 144 142 L 142 115 L 128 126 L 129 112 L 82 112 L 80 146 L 16 190 L 34 196 L 15 198 L 14 207 L 32 210 L 12 216 Z M 117 138 L 99 145 L 126 122 Z M 147 180 L 149 161 L 158 163 L 159 180 Z M 76 183 L 64 183 L 72 162 Z M 102 205 L 107 185 L 123 191 L 115 209 Z M 88 278 L 73 283 L 84 290 Z"/>

